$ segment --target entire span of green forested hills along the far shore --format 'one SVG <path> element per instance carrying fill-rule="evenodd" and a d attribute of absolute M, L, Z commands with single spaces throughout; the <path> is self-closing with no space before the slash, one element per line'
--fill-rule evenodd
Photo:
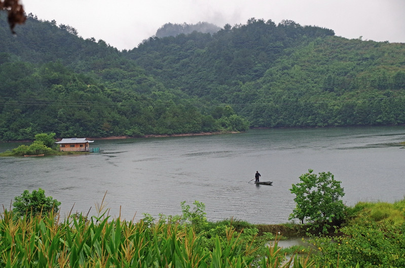
<path fill-rule="evenodd" d="M 405 123 L 405 45 L 271 20 L 120 52 L 0 14 L 0 140 Z"/>

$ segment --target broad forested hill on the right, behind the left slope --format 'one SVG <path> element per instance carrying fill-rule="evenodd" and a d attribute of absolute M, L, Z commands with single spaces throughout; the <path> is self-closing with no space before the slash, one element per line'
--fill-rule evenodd
<path fill-rule="evenodd" d="M 405 123 L 405 44 L 250 19 L 150 39 L 126 56 L 168 88 L 227 103 L 251 127 Z"/>

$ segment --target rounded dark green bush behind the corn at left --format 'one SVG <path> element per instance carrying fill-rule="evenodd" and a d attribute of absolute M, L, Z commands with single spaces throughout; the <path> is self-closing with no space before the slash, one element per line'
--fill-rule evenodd
<path fill-rule="evenodd" d="M 29 193 L 25 190 L 21 196 L 14 198 L 13 211 L 19 215 L 24 216 L 35 216 L 40 214 L 49 214 L 50 212 L 57 213 L 59 211 L 60 202 L 52 197 L 45 196 L 45 190 L 39 188 L 37 190 L 32 190 Z"/>

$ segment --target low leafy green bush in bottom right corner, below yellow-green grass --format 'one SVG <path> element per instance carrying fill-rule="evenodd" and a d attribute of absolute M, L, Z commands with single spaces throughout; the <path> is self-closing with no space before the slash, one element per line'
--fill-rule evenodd
<path fill-rule="evenodd" d="M 405 224 L 377 223 L 371 218 L 359 217 L 356 223 L 340 229 L 339 237 L 315 238 L 320 254 L 314 259 L 323 265 L 337 267 L 405 267 Z M 341 265 L 339 265 L 340 267 Z M 343 265 L 342 265 L 343 266 Z"/>

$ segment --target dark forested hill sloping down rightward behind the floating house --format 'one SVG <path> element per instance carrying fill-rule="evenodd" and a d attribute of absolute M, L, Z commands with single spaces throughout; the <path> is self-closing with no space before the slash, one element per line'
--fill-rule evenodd
<path fill-rule="evenodd" d="M 0 140 L 245 131 L 232 107 L 166 88 L 104 41 L 28 15 L 0 14 Z"/>

